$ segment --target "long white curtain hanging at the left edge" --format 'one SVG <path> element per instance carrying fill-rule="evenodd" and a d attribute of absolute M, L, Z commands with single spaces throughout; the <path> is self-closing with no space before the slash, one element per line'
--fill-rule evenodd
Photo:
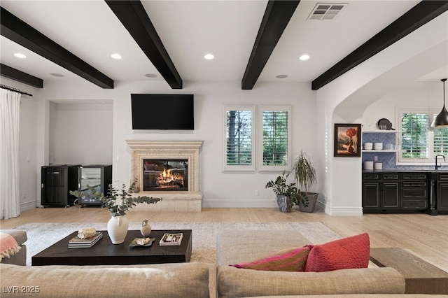
<path fill-rule="evenodd" d="M 0 215 L 5 220 L 20 215 L 20 97 L 0 89 Z"/>

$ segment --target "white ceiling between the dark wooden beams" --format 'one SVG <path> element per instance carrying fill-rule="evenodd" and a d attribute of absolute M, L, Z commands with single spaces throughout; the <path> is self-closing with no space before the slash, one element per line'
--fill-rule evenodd
<path fill-rule="evenodd" d="M 267 1 L 142 3 L 182 80 L 241 81 Z M 330 1 L 349 5 L 335 20 L 307 20 L 316 3 L 329 1 L 300 1 L 258 81 L 311 83 L 419 1 Z M 2 0 L 1 6 L 113 80 L 163 80 L 102 0 Z M 2 64 L 44 82 L 81 79 L 8 38 L 1 36 L 0 42 Z M 16 58 L 15 52 L 27 58 Z M 111 59 L 114 52 L 123 59 Z M 209 52 L 215 59 L 204 59 Z M 311 59 L 302 62 L 299 56 L 305 53 Z M 419 80 L 440 81 L 448 74 L 444 64 Z M 158 76 L 147 78 L 148 73 Z M 278 75 L 288 77 L 279 79 Z"/>

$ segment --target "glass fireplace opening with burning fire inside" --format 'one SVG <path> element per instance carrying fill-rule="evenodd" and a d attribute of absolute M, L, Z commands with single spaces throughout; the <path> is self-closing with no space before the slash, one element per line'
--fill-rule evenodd
<path fill-rule="evenodd" d="M 188 159 L 144 159 L 145 191 L 188 191 Z"/>

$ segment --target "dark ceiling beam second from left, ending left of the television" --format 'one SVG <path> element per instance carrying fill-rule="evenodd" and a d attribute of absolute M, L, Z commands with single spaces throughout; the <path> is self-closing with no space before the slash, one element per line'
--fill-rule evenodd
<path fill-rule="evenodd" d="M 55 62 L 55 64 L 64 67 L 64 69 L 76 73 L 99 87 L 113 89 L 113 80 L 104 73 L 94 69 L 90 64 L 62 48 L 61 45 L 41 34 L 41 32 L 23 22 L 8 10 L 2 7 L 0 9 L 0 33 L 2 36 L 36 52 L 36 54 L 41 55 L 45 59 Z"/>

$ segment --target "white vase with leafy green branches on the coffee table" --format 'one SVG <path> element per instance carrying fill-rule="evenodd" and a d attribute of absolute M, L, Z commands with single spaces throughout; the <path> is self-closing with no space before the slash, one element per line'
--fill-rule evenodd
<path fill-rule="evenodd" d="M 106 195 L 102 192 L 98 192 L 94 189 L 94 187 L 89 185 L 87 185 L 87 193 L 74 190 L 70 191 L 70 194 L 81 198 L 92 196 L 102 201 L 104 206 L 108 208 L 112 215 L 111 219 L 107 223 L 107 233 L 109 234 L 113 244 L 120 244 L 125 241 L 127 229 L 129 227 L 129 222 L 127 222 L 127 218 L 125 217 L 126 211 L 137 204 L 155 204 L 162 200 L 162 198 L 146 196 L 132 197 L 132 194 L 130 193 L 134 191 L 136 182 L 137 181 L 134 180 L 128 190 L 126 190 L 126 186 L 124 184 L 120 189 L 116 189 L 116 187 L 113 187 L 113 185 L 110 184 Z"/>

